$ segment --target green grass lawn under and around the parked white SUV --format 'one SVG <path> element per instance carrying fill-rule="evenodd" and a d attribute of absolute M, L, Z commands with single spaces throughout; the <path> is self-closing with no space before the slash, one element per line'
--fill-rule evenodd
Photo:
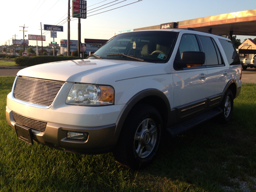
<path fill-rule="evenodd" d="M 239 181 L 255 190 L 256 85 L 245 84 L 228 124 L 210 120 L 165 138 L 159 156 L 132 171 L 111 153 L 80 155 L 19 140 L 5 120 L 6 95 L 15 77 L 0 77 L 0 191 L 224 191 Z M 234 187 L 235 186 L 235 187 Z"/>

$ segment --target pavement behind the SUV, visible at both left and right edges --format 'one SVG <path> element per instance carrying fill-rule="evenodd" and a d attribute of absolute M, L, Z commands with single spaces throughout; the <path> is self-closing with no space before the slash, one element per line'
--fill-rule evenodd
<path fill-rule="evenodd" d="M 16 76 L 19 70 L 26 67 L 16 67 L 16 66 L 0 66 L 0 76 Z M 242 83 L 256 83 L 256 69 L 247 68 L 242 70 Z"/>

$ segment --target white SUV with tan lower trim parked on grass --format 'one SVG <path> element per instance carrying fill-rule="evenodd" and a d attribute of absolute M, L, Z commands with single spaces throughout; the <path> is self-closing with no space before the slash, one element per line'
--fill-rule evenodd
<path fill-rule="evenodd" d="M 20 70 L 6 119 L 18 138 L 68 152 L 113 152 L 132 169 L 150 164 L 165 132 L 219 116 L 241 90 L 232 42 L 194 30 L 119 34 L 86 60 Z"/>

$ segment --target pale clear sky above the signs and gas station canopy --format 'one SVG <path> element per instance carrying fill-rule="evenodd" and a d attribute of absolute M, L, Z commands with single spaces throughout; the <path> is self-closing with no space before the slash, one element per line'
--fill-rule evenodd
<path fill-rule="evenodd" d="M 60 44 L 61 39 L 67 39 L 68 0 L 1 0 L 0 5 L 0 46 L 6 42 L 9 44 L 9 40 L 11 45 L 15 34 L 16 39 L 23 39 L 20 26 L 24 24 L 28 27 L 25 28 L 25 39 L 28 34 L 41 34 L 40 23 L 42 28 L 44 24 L 64 26 L 64 32 L 57 32 L 55 41 Z M 87 18 L 81 19 L 81 41 L 83 43 L 84 38 L 110 39 L 114 32 L 121 30 L 252 9 L 256 9 L 255 0 L 87 0 Z M 70 13 L 72 16 L 72 9 Z M 48 31 L 42 33 L 46 35 L 43 43 L 47 46 L 53 38 Z M 243 42 L 256 36 L 237 38 Z M 77 39 L 78 20 L 71 17 L 70 40 Z M 30 40 L 29 45 L 36 45 L 36 41 Z"/>

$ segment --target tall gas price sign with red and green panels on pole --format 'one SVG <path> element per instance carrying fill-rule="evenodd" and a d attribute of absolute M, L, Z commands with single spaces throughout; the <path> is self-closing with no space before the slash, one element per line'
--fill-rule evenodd
<path fill-rule="evenodd" d="M 72 17 L 86 19 L 87 1 L 72 0 Z"/>

